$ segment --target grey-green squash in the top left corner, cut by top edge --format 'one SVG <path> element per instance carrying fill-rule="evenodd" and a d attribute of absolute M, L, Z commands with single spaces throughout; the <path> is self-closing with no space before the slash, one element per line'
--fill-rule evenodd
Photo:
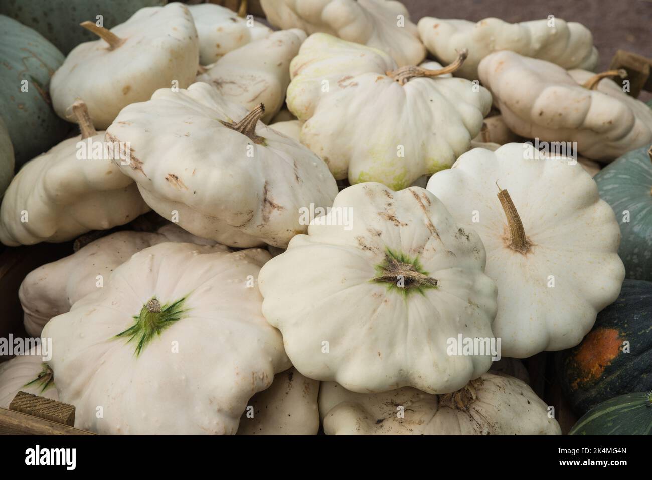
<path fill-rule="evenodd" d="M 166 0 L 2 0 L 0 14 L 35 29 L 61 52 L 82 42 L 97 40 L 93 33 L 80 27 L 85 20 L 96 22 L 101 14 L 109 29 L 126 22 L 142 7 L 165 5 Z"/>

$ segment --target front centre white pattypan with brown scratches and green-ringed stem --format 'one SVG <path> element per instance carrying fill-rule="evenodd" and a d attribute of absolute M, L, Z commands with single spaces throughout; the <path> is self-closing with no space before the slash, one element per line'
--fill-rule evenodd
<path fill-rule="evenodd" d="M 492 363 L 448 349 L 458 334 L 492 337 L 484 262 L 477 233 L 428 190 L 353 185 L 263 267 L 263 314 L 305 376 L 359 392 L 447 393 Z"/>

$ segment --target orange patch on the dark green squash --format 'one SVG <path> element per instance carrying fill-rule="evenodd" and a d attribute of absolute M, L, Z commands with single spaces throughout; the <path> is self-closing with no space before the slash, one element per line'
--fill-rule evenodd
<path fill-rule="evenodd" d="M 614 328 L 593 330 L 584 338 L 574 355 L 577 377 L 572 388 L 599 380 L 604 369 L 611 365 L 623 347 L 623 338 Z"/>

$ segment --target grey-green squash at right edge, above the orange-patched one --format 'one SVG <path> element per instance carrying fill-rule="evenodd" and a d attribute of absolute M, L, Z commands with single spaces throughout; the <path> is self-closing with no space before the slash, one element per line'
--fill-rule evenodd
<path fill-rule="evenodd" d="M 600 198 L 614 209 L 621 232 L 618 254 L 626 278 L 652 280 L 652 155 L 650 147 L 630 151 L 593 179 Z M 629 214 L 628 214 L 629 213 Z"/>

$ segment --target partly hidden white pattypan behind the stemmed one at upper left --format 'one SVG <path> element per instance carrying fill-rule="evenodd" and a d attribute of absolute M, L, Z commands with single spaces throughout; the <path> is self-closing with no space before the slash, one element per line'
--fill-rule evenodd
<path fill-rule="evenodd" d="M 200 44 L 200 64 L 215 63 L 222 55 L 238 47 L 265 38 L 272 30 L 263 23 L 237 16 L 230 8 L 213 3 L 188 5 Z"/>

